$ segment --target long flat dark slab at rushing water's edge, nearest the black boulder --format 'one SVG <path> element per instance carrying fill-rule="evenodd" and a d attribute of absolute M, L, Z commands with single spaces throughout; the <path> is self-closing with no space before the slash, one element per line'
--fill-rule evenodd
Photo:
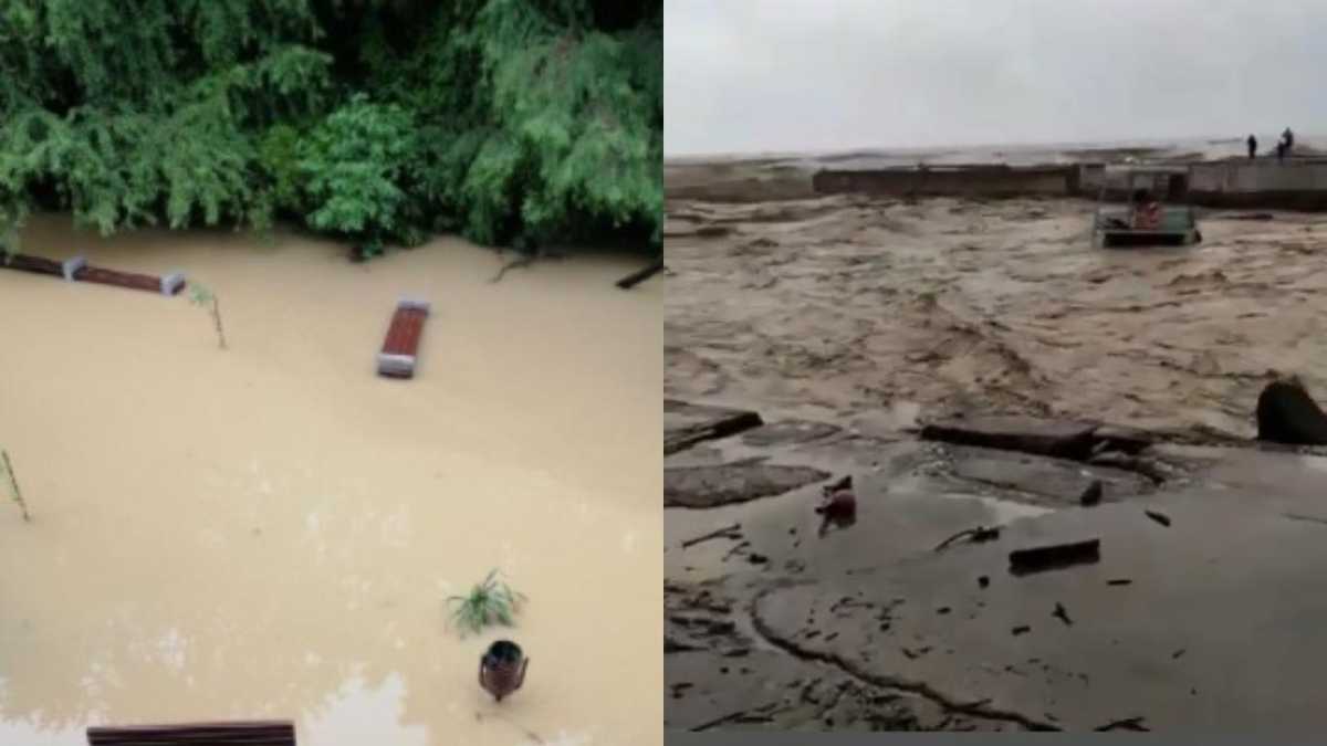
<path fill-rule="evenodd" d="M 1084 461 L 1092 455 L 1096 429 L 1093 422 L 974 417 L 926 425 L 921 430 L 921 438 Z"/>

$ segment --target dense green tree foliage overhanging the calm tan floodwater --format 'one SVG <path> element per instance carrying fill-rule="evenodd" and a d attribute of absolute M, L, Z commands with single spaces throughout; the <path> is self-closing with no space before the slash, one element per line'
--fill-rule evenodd
<path fill-rule="evenodd" d="M 4 0 L 0 234 L 657 248 L 662 33 L 661 0 Z"/>

